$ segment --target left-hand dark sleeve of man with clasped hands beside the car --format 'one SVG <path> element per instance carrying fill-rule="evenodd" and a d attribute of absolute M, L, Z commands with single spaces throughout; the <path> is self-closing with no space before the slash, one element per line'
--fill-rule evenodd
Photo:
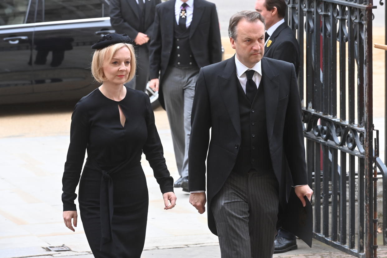
<path fill-rule="evenodd" d="M 130 39 L 134 40 L 139 32 L 123 19 L 121 12 L 121 1 L 110 0 L 109 11 L 110 23 L 111 26 L 115 29 L 116 33 L 126 33 Z M 131 19 L 133 19 L 133 17 L 131 17 Z"/>

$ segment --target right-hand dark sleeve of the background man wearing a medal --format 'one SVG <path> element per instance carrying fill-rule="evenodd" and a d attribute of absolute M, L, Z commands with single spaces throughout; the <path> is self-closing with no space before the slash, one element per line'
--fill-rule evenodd
<path fill-rule="evenodd" d="M 222 61 L 222 42 L 220 38 L 219 20 L 216 12 L 216 6 L 211 9 L 211 24 L 208 38 L 208 48 L 211 63 Z"/>

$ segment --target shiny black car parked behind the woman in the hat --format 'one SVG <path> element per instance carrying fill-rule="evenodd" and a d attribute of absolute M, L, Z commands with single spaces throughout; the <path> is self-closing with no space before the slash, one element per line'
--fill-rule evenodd
<path fill-rule="evenodd" d="M 96 89 L 90 46 L 114 32 L 108 10 L 108 0 L 1 0 L 0 104 L 79 99 Z M 147 93 L 158 106 L 158 94 Z"/>

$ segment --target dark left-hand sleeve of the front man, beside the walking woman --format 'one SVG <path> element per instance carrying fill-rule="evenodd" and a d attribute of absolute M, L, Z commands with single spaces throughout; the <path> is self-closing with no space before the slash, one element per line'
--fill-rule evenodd
<path fill-rule="evenodd" d="M 191 113 L 191 136 L 188 149 L 188 185 L 190 191 L 205 190 L 205 160 L 211 128 L 211 107 L 203 68 L 195 86 Z"/>

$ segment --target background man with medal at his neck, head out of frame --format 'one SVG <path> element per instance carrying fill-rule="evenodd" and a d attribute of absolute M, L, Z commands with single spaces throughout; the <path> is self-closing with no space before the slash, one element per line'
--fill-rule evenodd
<path fill-rule="evenodd" d="M 188 191 L 191 109 L 200 67 L 220 62 L 222 46 L 214 3 L 170 0 L 156 6 L 149 86 L 166 109 L 180 178 Z"/>

